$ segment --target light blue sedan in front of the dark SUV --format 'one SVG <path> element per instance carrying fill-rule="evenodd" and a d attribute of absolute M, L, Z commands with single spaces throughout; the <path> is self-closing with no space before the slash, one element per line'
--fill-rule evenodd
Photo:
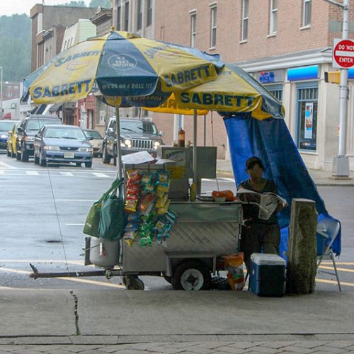
<path fill-rule="evenodd" d="M 75 125 L 45 125 L 34 141 L 34 162 L 40 166 L 74 162 L 92 166 L 93 149 L 84 132 Z"/>

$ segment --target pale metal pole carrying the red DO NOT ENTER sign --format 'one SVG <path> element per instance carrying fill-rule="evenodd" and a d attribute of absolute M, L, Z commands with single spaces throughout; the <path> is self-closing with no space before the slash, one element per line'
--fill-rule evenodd
<path fill-rule="evenodd" d="M 329 4 L 343 8 L 342 40 L 349 37 L 349 0 L 343 4 L 333 0 L 324 0 Z M 348 114 L 348 68 L 341 67 L 341 81 L 339 84 L 339 141 L 338 154 L 333 158 L 332 176 L 335 178 L 349 177 L 349 159 L 346 155 L 347 114 Z"/>

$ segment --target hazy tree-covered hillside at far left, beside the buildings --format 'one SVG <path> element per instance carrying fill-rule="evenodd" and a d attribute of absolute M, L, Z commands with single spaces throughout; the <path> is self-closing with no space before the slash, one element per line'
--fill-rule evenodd
<path fill-rule="evenodd" d="M 0 67 L 4 81 L 22 81 L 30 74 L 31 28 L 25 13 L 0 16 Z"/>

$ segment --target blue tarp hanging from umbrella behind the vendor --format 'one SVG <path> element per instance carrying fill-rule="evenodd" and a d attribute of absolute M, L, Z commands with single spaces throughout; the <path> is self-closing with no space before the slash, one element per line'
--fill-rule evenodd
<path fill-rule="evenodd" d="M 279 213 L 281 228 L 280 256 L 286 257 L 288 225 L 292 198 L 307 198 L 316 202 L 319 220 L 332 218 L 307 171 L 297 150 L 287 125 L 283 119 L 269 118 L 256 120 L 250 114 L 234 115 L 224 118 L 229 137 L 229 147 L 236 184 L 249 176 L 246 173 L 246 159 L 258 156 L 265 166 L 264 175 L 278 185 L 279 194 L 285 198 L 289 207 Z M 341 253 L 341 234 L 332 245 L 334 253 Z"/>

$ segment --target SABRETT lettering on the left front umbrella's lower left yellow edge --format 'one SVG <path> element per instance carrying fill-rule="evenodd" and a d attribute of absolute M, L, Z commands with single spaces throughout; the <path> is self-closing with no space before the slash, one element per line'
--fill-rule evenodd
<path fill-rule="evenodd" d="M 68 82 L 53 86 L 37 86 L 33 89 L 33 98 L 58 97 L 89 92 L 91 80 Z"/>

